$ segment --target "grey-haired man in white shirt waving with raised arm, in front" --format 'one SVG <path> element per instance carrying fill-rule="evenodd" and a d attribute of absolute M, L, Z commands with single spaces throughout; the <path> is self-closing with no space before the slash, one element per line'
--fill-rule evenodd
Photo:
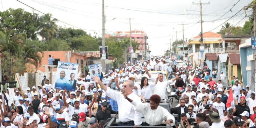
<path fill-rule="evenodd" d="M 134 106 L 124 98 L 123 94 L 120 92 L 114 91 L 110 87 L 105 86 L 98 76 L 92 77 L 93 81 L 98 83 L 100 87 L 105 91 L 105 94 L 110 97 L 111 99 L 115 100 L 118 105 L 118 116 L 120 122 L 118 123 L 118 126 L 139 126 L 141 125 L 141 116 L 142 114 L 134 111 Z M 123 91 L 129 97 L 135 102 L 141 102 L 140 97 L 137 96 L 132 92 L 132 89 L 134 87 L 134 82 L 131 80 L 125 81 L 123 84 Z"/>

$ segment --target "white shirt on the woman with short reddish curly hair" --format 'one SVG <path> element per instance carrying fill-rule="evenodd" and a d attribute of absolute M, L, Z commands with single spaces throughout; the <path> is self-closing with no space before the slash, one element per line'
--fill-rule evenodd
<path fill-rule="evenodd" d="M 149 103 L 142 103 L 137 101 L 132 101 L 135 106 L 135 110 L 141 112 L 145 115 L 145 122 L 150 126 L 160 125 L 163 120 L 174 120 L 171 126 L 175 124 L 175 118 L 170 114 L 165 108 L 160 105 L 157 109 L 152 110 Z"/>

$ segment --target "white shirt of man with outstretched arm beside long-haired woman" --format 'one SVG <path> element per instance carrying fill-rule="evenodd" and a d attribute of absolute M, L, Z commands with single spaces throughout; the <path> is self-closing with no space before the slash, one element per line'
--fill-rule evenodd
<path fill-rule="evenodd" d="M 168 85 L 170 85 L 171 83 L 173 83 L 172 80 L 169 81 L 162 81 L 160 82 L 158 80 L 157 84 L 155 85 L 155 90 L 154 90 L 154 94 L 157 94 L 161 97 L 161 99 L 165 99 L 167 98 L 166 94 L 166 87 Z"/>

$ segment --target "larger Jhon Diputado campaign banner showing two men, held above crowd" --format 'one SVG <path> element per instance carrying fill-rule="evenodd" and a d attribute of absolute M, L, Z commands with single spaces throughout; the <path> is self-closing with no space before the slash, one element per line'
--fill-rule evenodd
<path fill-rule="evenodd" d="M 79 64 L 58 61 L 55 89 L 75 91 Z"/>

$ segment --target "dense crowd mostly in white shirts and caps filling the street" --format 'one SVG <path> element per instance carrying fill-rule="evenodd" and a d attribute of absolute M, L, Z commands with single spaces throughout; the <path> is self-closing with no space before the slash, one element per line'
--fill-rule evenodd
<path fill-rule="evenodd" d="M 3 89 L 0 128 L 59 128 L 65 124 L 71 128 L 103 128 L 111 117 L 118 117 L 118 126 L 255 127 L 255 91 L 250 86 L 243 88 L 234 76 L 230 86 L 224 87 L 222 81 L 227 78 L 222 71 L 217 76 L 207 64 L 193 67 L 185 63 L 179 67 L 176 58 L 157 56 L 112 67 L 102 77 L 91 76 L 86 67 L 86 74 L 75 80 L 75 91 L 55 89 L 44 76 L 32 90 L 15 88 L 14 102 L 8 100 L 9 89 Z M 164 79 L 169 76 L 163 73 L 152 76 L 150 71 L 167 72 L 171 79 Z M 177 99 L 180 103 L 170 112 L 159 105 L 168 98 L 169 85 L 177 94 L 177 88 L 184 89 Z"/>

